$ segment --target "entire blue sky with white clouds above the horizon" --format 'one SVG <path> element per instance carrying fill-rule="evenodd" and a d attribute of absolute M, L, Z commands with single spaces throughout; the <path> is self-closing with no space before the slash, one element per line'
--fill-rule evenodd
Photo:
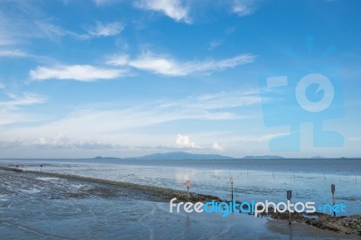
<path fill-rule="evenodd" d="M 1 0 L 0 158 L 361 157 L 360 9 Z"/>

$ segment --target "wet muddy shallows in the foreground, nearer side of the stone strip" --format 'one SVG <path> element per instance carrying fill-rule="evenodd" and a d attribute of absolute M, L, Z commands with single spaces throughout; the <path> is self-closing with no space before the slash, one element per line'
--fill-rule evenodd
<path fill-rule="evenodd" d="M 179 214 L 139 191 L 0 170 L 1 239 L 341 239 L 312 226 Z M 277 227 L 276 227 L 277 226 Z M 293 230 L 292 230 L 293 229 Z"/>

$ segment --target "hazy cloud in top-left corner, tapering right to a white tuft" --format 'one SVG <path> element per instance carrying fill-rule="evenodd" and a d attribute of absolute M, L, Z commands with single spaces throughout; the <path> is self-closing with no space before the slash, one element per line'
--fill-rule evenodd
<path fill-rule="evenodd" d="M 29 44 L 35 39 L 48 38 L 52 42 L 60 42 L 61 37 L 77 40 L 88 40 L 93 37 L 114 36 L 123 30 L 121 23 L 99 23 L 88 32 L 69 31 L 52 17 L 44 14 L 39 6 L 27 1 L 0 1 L 0 46 L 16 46 Z M 98 1 L 112 2 L 112 1 Z"/>

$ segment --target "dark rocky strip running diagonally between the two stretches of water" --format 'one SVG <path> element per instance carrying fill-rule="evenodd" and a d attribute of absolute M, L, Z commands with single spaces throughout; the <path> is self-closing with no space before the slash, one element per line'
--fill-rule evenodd
<path fill-rule="evenodd" d="M 83 177 L 79 175 L 73 174 L 62 174 L 55 172 L 46 172 L 46 171 L 23 171 L 17 168 L 0 166 L 0 170 L 4 171 L 15 171 L 15 172 L 23 172 L 23 173 L 34 173 L 42 176 L 51 176 L 57 177 L 61 179 L 69 179 L 69 180 L 84 180 L 89 182 L 96 182 L 116 187 L 121 187 L 130 190 L 140 190 L 149 195 L 155 195 L 158 198 L 161 198 L 161 201 L 168 202 L 171 198 L 177 198 L 177 202 L 180 201 L 190 201 L 190 202 L 207 202 L 211 200 L 215 200 L 216 202 L 229 201 L 227 199 L 221 199 L 216 196 L 211 195 L 203 195 L 195 192 L 188 193 L 187 191 L 177 190 L 177 189 L 167 189 L 162 187 L 155 187 L 149 185 L 142 185 L 130 182 L 122 182 L 115 180 L 102 180 L 95 179 L 90 177 Z M 237 203 L 241 203 L 236 201 Z M 248 214 L 252 215 L 252 214 Z M 268 208 L 268 212 L 260 213 L 261 217 L 270 217 L 274 220 L 288 220 L 289 213 L 274 213 L 273 208 Z M 324 213 L 292 213 L 292 222 L 306 224 L 310 226 L 316 226 L 320 229 L 327 229 L 330 231 L 344 233 L 346 235 L 361 235 L 361 215 L 351 215 L 347 217 L 331 217 L 328 214 Z"/>

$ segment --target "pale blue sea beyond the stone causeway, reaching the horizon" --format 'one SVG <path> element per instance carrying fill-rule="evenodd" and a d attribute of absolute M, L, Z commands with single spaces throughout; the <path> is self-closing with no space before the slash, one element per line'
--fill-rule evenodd
<path fill-rule="evenodd" d="M 240 201 L 286 200 L 292 189 L 293 202 L 315 202 L 316 207 L 332 203 L 331 184 L 336 184 L 335 200 L 346 213 L 361 213 L 361 160 L 222 160 L 222 161 L 144 161 L 144 160 L 11 160 L 23 170 L 76 174 L 106 180 L 121 180 L 170 189 L 186 189 L 230 198 L 230 177 L 235 197 Z M 326 212 L 329 213 L 330 212 Z"/>

